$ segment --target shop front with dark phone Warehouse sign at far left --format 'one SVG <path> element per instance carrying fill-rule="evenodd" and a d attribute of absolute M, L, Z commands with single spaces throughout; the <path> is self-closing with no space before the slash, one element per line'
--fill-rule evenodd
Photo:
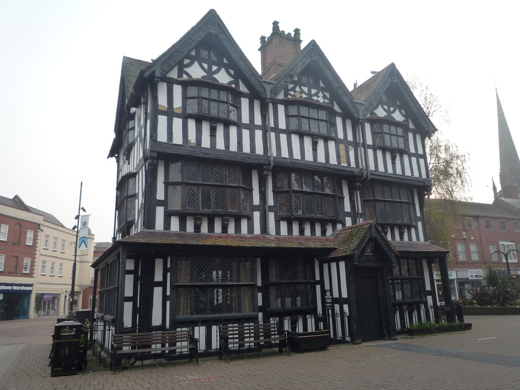
<path fill-rule="evenodd" d="M 29 318 L 32 284 L 0 283 L 0 321 Z"/>

